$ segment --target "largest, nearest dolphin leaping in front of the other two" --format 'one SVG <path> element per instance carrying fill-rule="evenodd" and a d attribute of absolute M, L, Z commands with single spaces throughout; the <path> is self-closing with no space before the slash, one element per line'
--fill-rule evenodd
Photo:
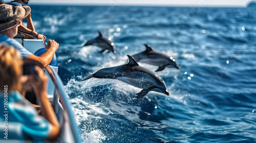
<path fill-rule="evenodd" d="M 133 85 L 134 87 L 143 89 L 141 92 L 136 94 L 136 98 L 141 98 L 150 91 L 169 95 L 169 92 L 166 90 L 166 85 L 159 75 L 139 66 L 132 56 L 127 56 L 129 58 L 129 62 L 127 64 L 100 69 L 96 73 L 88 75 L 79 81 L 87 80 L 91 77 L 121 80 Z"/>

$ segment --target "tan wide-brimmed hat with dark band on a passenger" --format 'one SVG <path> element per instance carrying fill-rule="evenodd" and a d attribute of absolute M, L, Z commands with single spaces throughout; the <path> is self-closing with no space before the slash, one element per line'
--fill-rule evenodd
<path fill-rule="evenodd" d="M 30 11 L 29 6 L 15 7 L 7 4 L 0 6 L 0 32 L 16 26 Z"/>

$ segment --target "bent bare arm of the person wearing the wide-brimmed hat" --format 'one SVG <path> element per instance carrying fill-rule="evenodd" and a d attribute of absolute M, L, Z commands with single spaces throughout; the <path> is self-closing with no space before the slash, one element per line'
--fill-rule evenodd
<path fill-rule="evenodd" d="M 55 51 L 58 49 L 59 44 L 54 40 L 49 40 L 46 45 L 46 52 L 41 54 L 40 56 L 36 56 L 34 54 L 30 54 L 23 59 L 24 63 L 34 63 L 35 65 L 45 68 L 52 61 L 53 55 Z"/>

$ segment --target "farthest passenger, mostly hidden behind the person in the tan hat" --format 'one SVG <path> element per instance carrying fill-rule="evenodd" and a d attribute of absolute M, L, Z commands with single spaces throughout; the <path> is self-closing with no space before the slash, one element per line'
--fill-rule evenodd
<path fill-rule="evenodd" d="M 15 1 L 11 1 L 10 3 L 8 3 L 8 5 L 13 5 L 13 6 L 19 6 L 22 7 L 22 4 L 28 4 L 29 0 L 15 0 Z M 44 40 L 44 42 L 46 41 L 46 37 L 44 35 L 38 34 L 35 31 L 35 27 L 31 18 L 31 13 L 29 13 L 29 15 L 27 16 L 27 27 L 23 25 L 23 20 L 20 21 L 20 26 L 18 27 L 18 31 L 20 32 L 24 32 L 24 33 L 28 33 L 32 36 L 27 36 L 27 35 L 23 35 L 20 37 L 17 36 L 15 38 L 25 38 L 25 39 L 42 39 Z"/>

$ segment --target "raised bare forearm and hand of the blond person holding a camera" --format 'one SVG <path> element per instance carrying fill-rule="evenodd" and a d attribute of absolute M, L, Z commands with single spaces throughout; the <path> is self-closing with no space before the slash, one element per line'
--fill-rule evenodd
<path fill-rule="evenodd" d="M 47 136 L 48 140 L 56 140 L 60 132 L 60 126 L 55 115 L 55 112 L 52 108 L 52 105 L 47 97 L 47 81 L 48 78 L 45 75 L 44 71 L 39 67 L 35 67 L 35 79 L 38 81 L 34 85 L 35 94 L 37 100 L 40 104 L 41 115 L 44 117 L 51 125 L 50 133 Z"/>

